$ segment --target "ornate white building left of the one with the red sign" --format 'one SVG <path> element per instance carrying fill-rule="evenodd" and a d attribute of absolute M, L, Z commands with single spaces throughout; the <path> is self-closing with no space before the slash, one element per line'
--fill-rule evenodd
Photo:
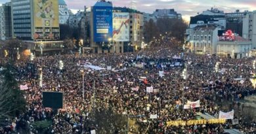
<path fill-rule="evenodd" d="M 198 25 L 186 29 L 186 42 L 189 52 L 196 54 L 216 54 L 218 31 L 222 27 L 214 24 Z"/>

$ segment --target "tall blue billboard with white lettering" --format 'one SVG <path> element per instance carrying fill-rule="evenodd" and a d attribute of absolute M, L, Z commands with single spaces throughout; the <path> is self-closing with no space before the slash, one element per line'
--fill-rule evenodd
<path fill-rule="evenodd" d="M 93 7 L 94 42 L 108 42 L 112 39 L 112 7 Z"/>

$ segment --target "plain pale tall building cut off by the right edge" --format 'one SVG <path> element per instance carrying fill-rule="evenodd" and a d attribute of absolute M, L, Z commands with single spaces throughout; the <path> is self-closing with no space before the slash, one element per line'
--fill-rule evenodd
<path fill-rule="evenodd" d="M 256 10 L 249 12 L 243 19 L 243 37 L 252 42 L 252 47 L 256 48 Z"/>

